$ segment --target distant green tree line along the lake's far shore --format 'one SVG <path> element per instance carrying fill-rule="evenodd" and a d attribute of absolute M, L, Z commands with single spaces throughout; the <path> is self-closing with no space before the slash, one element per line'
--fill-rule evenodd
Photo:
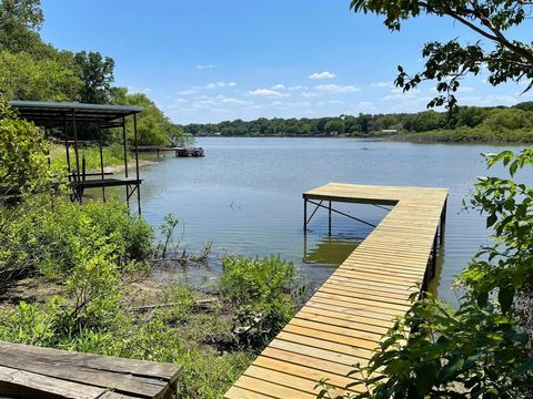
<path fill-rule="evenodd" d="M 451 112 L 359 114 L 333 117 L 266 119 L 188 124 L 194 136 L 376 136 L 424 133 L 428 140 L 532 141 L 533 101 L 514 106 L 459 106 Z M 428 134 L 431 132 L 432 134 Z M 411 140 L 416 140 L 410 134 Z M 455 137 L 455 140 L 454 140 Z M 491 140 L 492 139 L 492 140 Z"/>

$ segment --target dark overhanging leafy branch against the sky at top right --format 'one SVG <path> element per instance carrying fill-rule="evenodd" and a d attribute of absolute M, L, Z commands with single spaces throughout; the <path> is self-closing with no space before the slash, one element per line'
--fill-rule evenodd
<path fill-rule="evenodd" d="M 487 81 L 493 85 L 524 81 L 524 92 L 533 88 L 533 42 L 511 37 L 514 27 L 531 21 L 527 19 L 531 1 L 352 0 L 351 8 L 355 12 L 383 16 L 384 24 L 391 31 L 399 31 L 404 21 L 423 14 L 450 17 L 490 43 L 461 44 L 456 39 L 445 43 L 429 42 L 422 49 L 425 65 L 421 72 L 410 75 L 399 66 L 395 84 L 404 91 L 416 88 L 422 81 L 438 82 L 439 95 L 429 106 L 445 104 L 453 108 L 461 79 L 477 75 L 483 66 L 486 66 Z"/>

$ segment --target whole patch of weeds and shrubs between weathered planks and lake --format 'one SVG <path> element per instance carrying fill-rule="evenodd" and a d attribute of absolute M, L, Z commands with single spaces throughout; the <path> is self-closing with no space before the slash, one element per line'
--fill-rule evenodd
<path fill-rule="evenodd" d="M 235 257 L 223 259 L 211 295 L 160 282 L 148 305 L 132 306 L 132 282 L 151 278 L 161 247 L 123 205 L 57 203 L 19 222 L 18 246 L 3 255 L 18 254 L 29 274 L 61 289 L 41 304 L 8 296 L 14 304 L 0 309 L 0 340 L 175 362 L 181 398 L 220 398 L 301 300 L 292 263 Z M 169 249 L 163 260 L 175 265 Z"/>

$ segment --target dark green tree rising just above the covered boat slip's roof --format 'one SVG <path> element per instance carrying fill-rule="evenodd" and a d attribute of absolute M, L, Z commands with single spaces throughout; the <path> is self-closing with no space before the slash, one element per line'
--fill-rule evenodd
<path fill-rule="evenodd" d="M 79 76 L 83 85 L 80 100 L 84 103 L 104 104 L 111 98 L 111 83 L 113 82 L 114 61 L 99 52 L 80 51 L 74 55 L 79 68 Z"/>

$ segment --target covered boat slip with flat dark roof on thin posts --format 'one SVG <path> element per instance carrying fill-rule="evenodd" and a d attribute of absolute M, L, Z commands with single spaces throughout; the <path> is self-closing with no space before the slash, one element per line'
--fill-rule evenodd
<path fill-rule="evenodd" d="M 59 135 L 66 146 L 66 164 L 71 188 L 71 200 L 82 202 L 87 188 L 101 188 L 105 201 L 105 187 L 125 187 L 125 198 L 129 204 L 132 196 L 137 197 L 138 212 L 141 213 L 139 175 L 139 145 L 137 134 L 137 115 L 143 111 L 142 106 L 102 105 L 83 103 L 54 103 L 38 101 L 10 101 L 9 104 L 17 109 L 19 115 L 37 126 L 44 129 L 47 136 Z M 127 117 L 132 116 L 133 137 L 132 147 L 135 158 L 135 170 L 130 176 L 128 165 L 128 137 Z M 104 136 L 109 129 L 120 129 L 124 156 L 124 177 L 109 177 L 104 171 L 102 146 L 105 145 Z M 83 134 L 91 132 L 93 140 L 87 141 Z M 98 144 L 100 149 L 100 171 L 88 173 L 86 171 L 82 149 L 87 143 Z M 81 152 L 81 154 L 80 154 Z"/>

